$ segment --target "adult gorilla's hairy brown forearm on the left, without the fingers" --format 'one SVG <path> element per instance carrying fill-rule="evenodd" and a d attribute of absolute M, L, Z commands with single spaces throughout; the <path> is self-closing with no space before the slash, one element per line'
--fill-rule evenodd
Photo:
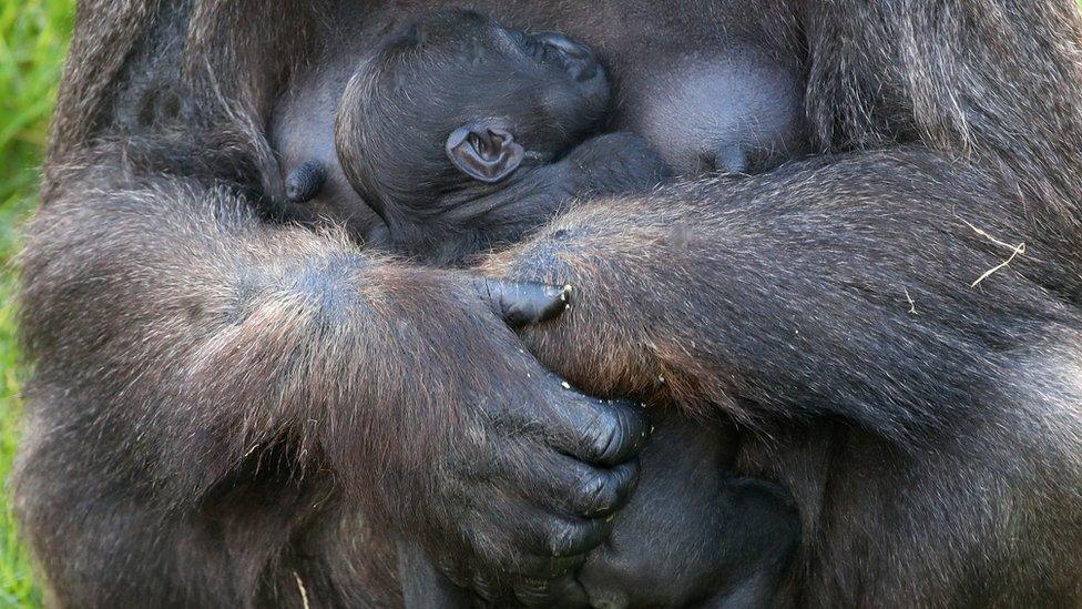
<path fill-rule="evenodd" d="M 197 499 L 283 438 L 344 460 L 346 478 L 428 453 L 377 457 L 361 433 L 404 390 L 366 345 L 417 339 L 395 326 L 387 295 L 408 283 L 422 298 L 425 274 L 334 236 L 262 225 L 224 189 L 81 185 L 31 226 L 23 331 L 44 355 L 39 376 L 93 395 L 98 424 L 131 438 L 115 446 L 134 454 L 112 457 L 150 464 L 173 501 Z M 439 429 L 426 443 L 438 446 Z"/>

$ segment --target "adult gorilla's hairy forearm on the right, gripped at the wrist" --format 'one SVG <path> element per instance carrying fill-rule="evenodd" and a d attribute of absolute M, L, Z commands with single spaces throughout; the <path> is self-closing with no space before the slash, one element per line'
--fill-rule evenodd
<path fill-rule="evenodd" d="M 1078 327 L 1032 281 L 1065 271 L 987 174 L 916 149 L 828 163 L 586 204 L 496 264 L 574 285 L 530 339 L 590 390 L 891 436 L 994 399 L 1004 352 Z"/>

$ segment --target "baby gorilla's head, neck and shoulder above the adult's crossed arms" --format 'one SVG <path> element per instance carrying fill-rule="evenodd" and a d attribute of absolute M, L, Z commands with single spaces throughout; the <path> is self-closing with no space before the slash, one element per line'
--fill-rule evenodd
<path fill-rule="evenodd" d="M 360 65 L 336 121 L 346 177 L 385 223 L 369 243 L 460 263 L 575 195 L 657 185 L 668 171 L 641 138 L 589 139 L 609 98 L 593 51 L 558 33 L 467 11 L 406 28 Z"/>

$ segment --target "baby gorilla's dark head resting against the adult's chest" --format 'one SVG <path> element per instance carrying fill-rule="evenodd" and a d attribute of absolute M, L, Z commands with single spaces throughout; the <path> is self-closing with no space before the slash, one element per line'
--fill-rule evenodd
<path fill-rule="evenodd" d="M 430 14 L 361 63 L 335 143 L 353 187 L 391 233 L 468 213 L 522 168 L 559 158 L 601 126 L 609 83 L 594 53 L 470 11 Z"/>

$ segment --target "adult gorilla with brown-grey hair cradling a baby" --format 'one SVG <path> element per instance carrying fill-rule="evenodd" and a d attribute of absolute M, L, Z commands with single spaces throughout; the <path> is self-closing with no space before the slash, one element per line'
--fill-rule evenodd
<path fill-rule="evenodd" d="M 478 585 L 561 593 L 518 576 L 598 542 L 557 506 L 599 512 L 576 485 L 634 453 L 636 418 L 542 363 L 756 426 L 741 473 L 804 517 L 789 602 L 1082 602 L 1071 0 L 476 6 L 600 47 L 655 138 L 639 92 L 702 82 L 663 78 L 754 16 L 833 154 L 593 202 L 490 261 L 578 288 L 528 332 L 539 363 L 468 276 L 248 211 L 280 197 L 282 93 L 325 91 L 401 4 L 84 4 L 23 293 L 18 507 L 58 602 L 394 602 L 388 530 Z"/>

